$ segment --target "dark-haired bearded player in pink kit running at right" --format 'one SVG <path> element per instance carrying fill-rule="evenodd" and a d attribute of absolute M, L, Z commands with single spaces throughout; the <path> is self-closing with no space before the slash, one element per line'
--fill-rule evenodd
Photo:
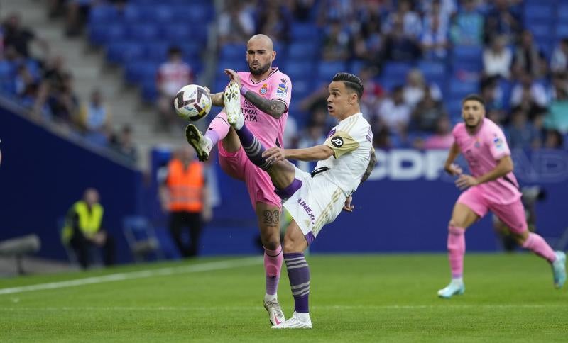
<path fill-rule="evenodd" d="M 553 251 L 540 235 L 528 231 L 525 208 L 520 201 L 513 160 L 503 131 L 485 118 L 485 103 L 476 94 L 464 98 L 461 116 L 464 123 L 454 128 L 454 144 L 444 169 L 459 176 L 456 185 L 466 191 L 457 199 L 449 220 L 447 247 L 452 281 L 438 291 L 438 296 L 452 298 L 464 293 L 465 230 L 488 210 L 510 227 L 510 234 L 519 245 L 550 262 L 555 287 L 562 287 L 566 281 L 566 255 Z M 464 154 L 471 175 L 463 174 L 461 168 L 453 164 L 460 152 Z"/>

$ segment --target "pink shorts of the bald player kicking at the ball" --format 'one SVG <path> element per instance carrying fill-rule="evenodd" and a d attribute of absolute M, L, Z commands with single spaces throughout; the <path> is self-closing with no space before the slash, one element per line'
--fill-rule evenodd
<path fill-rule="evenodd" d="M 244 181 L 249 191 L 251 205 L 256 208 L 256 203 L 268 203 L 282 210 L 280 197 L 274 193 L 271 177 L 266 171 L 256 167 L 249 157 L 246 157 L 243 147 L 237 152 L 226 152 L 222 142 L 217 144 L 219 150 L 219 164 L 226 174 L 235 179 Z"/>

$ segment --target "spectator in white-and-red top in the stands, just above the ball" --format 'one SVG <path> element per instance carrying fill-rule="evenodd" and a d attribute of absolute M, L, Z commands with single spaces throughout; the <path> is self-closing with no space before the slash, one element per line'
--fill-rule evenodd
<path fill-rule="evenodd" d="M 173 108 L 173 99 L 178 91 L 187 84 L 192 84 L 193 74 L 191 67 L 183 62 L 182 50 L 179 47 L 170 47 L 168 61 L 158 69 L 158 112 L 160 113 L 160 128 L 169 130 L 178 120 Z"/>

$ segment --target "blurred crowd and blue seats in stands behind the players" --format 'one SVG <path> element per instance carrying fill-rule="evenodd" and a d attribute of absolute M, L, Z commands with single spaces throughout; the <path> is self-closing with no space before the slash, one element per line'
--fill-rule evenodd
<path fill-rule="evenodd" d="M 109 28 L 98 21 L 111 18 L 129 25 L 145 15 L 144 9 L 158 4 L 159 18 L 147 24 L 152 30 L 136 32 L 136 37 L 161 40 L 163 33 L 168 46 L 161 42 L 159 48 L 153 47 L 160 60 L 148 61 L 144 66 L 149 65 L 151 72 L 141 72 L 143 52 L 136 55 L 138 50 L 124 45 L 118 47 L 122 55 L 111 53 L 118 35 L 128 43 L 133 39 L 113 29 L 122 23 Z M 469 93 L 481 94 L 488 118 L 505 129 L 510 147 L 568 144 L 568 26 L 560 20 L 568 13 L 568 4 L 562 1 L 239 0 L 224 1 L 222 9 L 196 1 L 191 11 L 207 16 L 202 23 L 216 18 L 212 30 L 199 31 L 202 44 L 210 41 L 211 34 L 217 42 L 217 74 L 209 81 L 192 78 L 204 72 L 204 64 L 211 60 L 208 52 L 203 45 L 196 52 L 195 46 L 186 44 L 187 38 L 180 40 L 182 26 L 197 35 L 195 24 L 176 22 L 177 32 L 163 28 L 173 25 L 165 19 L 181 8 L 190 11 L 183 1 L 175 0 L 54 0 L 50 14 L 66 16 L 69 35 L 88 28 L 92 43 L 109 49 L 107 58 L 125 67 L 126 78 L 142 86 L 145 99 L 160 103 L 161 113 L 167 111 L 160 99 L 160 82 L 167 80 L 158 70 L 175 47 L 170 42 L 182 42 L 178 51 L 185 55 L 184 82 L 215 84 L 211 88 L 220 91 L 226 77 L 219 69 L 227 63 L 246 68 L 246 41 L 254 33 L 271 36 L 278 52 L 275 65 L 293 82 L 288 146 L 323 142 L 331 125 L 326 116 L 327 84 L 334 72 L 342 70 L 364 80 L 362 112 L 373 125 L 373 143 L 379 148 L 449 147 L 452 125 L 460 120 L 460 101 Z M 150 13 L 146 15 L 154 15 Z M 78 99 L 65 60 L 50 54 L 48 45 L 16 14 L 2 19 L 2 93 L 33 108 L 38 118 L 63 123 L 136 159 L 131 128 L 114 132 L 111 110 L 104 106 L 100 92 L 94 89 L 92 99 Z M 28 45 L 34 41 L 45 51 L 45 59 L 30 57 Z M 231 54 L 235 47 L 238 53 Z"/>

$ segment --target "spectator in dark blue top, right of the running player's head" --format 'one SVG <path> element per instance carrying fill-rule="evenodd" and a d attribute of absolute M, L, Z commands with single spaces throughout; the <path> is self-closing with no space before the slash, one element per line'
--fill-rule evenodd
<path fill-rule="evenodd" d="M 507 141 L 512 149 L 530 148 L 537 149 L 541 145 L 542 137 L 540 132 L 528 120 L 528 114 L 523 108 L 513 109 L 510 117 Z"/>

